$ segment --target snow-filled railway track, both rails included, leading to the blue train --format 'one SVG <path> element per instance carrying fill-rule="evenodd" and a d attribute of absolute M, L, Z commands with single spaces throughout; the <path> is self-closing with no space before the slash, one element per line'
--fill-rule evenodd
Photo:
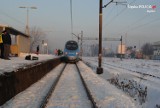
<path fill-rule="evenodd" d="M 98 108 L 76 64 L 66 64 L 40 108 Z"/>

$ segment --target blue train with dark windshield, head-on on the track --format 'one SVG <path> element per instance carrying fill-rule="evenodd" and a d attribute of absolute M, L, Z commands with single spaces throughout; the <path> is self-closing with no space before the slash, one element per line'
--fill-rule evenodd
<path fill-rule="evenodd" d="M 64 57 L 65 62 L 78 62 L 79 61 L 79 46 L 74 40 L 69 40 L 65 44 Z"/>

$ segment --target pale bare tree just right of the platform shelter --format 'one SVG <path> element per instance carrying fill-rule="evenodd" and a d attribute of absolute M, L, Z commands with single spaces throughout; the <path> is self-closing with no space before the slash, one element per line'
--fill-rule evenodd
<path fill-rule="evenodd" d="M 33 52 L 34 49 L 42 43 L 42 40 L 44 40 L 45 33 L 37 27 L 33 27 L 30 32 L 31 35 L 31 46 L 30 46 L 30 52 Z"/>

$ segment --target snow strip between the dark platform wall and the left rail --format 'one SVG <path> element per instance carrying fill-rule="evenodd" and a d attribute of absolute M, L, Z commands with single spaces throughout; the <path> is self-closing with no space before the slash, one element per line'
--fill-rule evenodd
<path fill-rule="evenodd" d="M 40 81 L 19 93 L 0 108 L 40 108 L 49 88 L 55 82 L 64 64 L 60 64 Z"/>

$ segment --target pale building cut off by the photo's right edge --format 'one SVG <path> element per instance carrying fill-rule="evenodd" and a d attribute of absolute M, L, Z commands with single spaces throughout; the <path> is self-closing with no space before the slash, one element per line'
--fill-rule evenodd
<path fill-rule="evenodd" d="M 153 59 L 160 60 L 160 41 L 153 43 Z"/>

